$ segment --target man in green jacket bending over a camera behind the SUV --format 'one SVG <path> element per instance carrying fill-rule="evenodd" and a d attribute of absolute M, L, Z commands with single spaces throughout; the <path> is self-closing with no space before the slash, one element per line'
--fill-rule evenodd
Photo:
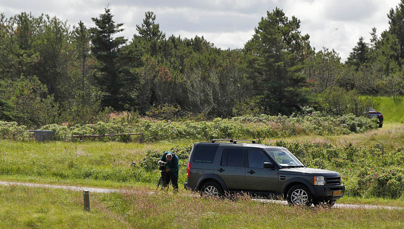
<path fill-rule="evenodd" d="M 167 187 L 171 180 L 174 192 L 178 192 L 178 157 L 171 152 L 165 152 L 161 160 L 167 162 L 167 168 L 163 177 L 163 187 Z"/>

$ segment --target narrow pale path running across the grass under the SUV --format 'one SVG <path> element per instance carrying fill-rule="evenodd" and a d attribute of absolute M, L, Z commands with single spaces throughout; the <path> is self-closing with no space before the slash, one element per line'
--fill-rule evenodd
<path fill-rule="evenodd" d="M 49 189 L 64 189 L 70 191 L 83 191 L 87 190 L 90 193 L 126 193 L 128 190 L 120 190 L 120 189 L 102 189 L 102 188 L 90 188 L 90 187 L 81 187 L 81 186 L 60 186 L 60 185 L 42 185 L 42 184 L 32 184 L 32 183 L 24 183 L 24 182 L 9 182 L 9 181 L 0 181 L 0 186 L 26 186 L 33 188 L 49 188 Z M 133 191 L 135 192 L 135 191 Z M 150 195 L 153 195 L 154 192 L 149 192 Z M 198 195 L 195 195 L 198 197 Z M 280 200 L 264 200 L 264 199 L 252 199 L 253 201 L 258 201 L 262 203 L 277 203 L 287 205 L 287 201 Z M 403 207 L 389 207 L 389 206 L 379 206 L 379 205 L 358 205 L 358 204 L 335 204 L 333 208 L 347 208 L 347 209 L 388 209 L 388 210 L 404 210 Z"/>

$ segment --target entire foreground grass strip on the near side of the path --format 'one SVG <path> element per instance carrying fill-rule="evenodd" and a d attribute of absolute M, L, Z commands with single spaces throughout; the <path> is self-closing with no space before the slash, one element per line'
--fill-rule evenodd
<path fill-rule="evenodd" d="M 133 191 L 133 190 L 132 190 Z M 205 199 L 135 189 L 124 194 L 0 187 L 0 228 L 400 228 L 404 210 L 299 208 L 249 198 Z M 182 191 L 183 192 L 183 191 Z M 182 194 L 180 192 L 180 194 Z"/>

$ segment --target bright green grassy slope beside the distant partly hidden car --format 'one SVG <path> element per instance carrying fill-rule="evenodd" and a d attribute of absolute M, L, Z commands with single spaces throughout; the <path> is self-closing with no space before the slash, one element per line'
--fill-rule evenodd
<path fill-rule="evenodd" d="M 404 97 L 372 97 L 374 109 L 383 113 L 384 122 L 404 123 Z"/>

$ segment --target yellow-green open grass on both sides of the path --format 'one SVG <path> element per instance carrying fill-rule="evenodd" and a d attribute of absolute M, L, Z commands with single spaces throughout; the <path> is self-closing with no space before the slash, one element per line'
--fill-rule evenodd
<path fill-rule="evenodd" d="M 360 134 L 300 135 L 283 140 L 331 143 L 339 147 L 349 143 L 378 145 L 393 151 L 404 145 L 404 124 L 386 122 L 383 128 Z M 264 141 L 272 144 L 276 139 Z M 131 162 L 140 160 L 147 150 L 167 150 L 173 145 L 189 146 L 194 142 L 198 141 L 153 144 L 1 141 L 0 180 L 138 192 L 91 194 L 91 212 L 86 213 L 82 210 L 81 192 L 0 186 L 0 228 L 404 227 L 402 210 L 306 209 L 262 204 L 248 198 L 202 199 L 171 192 L 168 197 L 164 193 L 149 195 L 149 191 L 155 190 L 159 173 L 134 173 Z M 180 185 L 180 194 L 189 193 Z M 402 198 L 344 196 L 337 203 L 404 207 Z"/>

